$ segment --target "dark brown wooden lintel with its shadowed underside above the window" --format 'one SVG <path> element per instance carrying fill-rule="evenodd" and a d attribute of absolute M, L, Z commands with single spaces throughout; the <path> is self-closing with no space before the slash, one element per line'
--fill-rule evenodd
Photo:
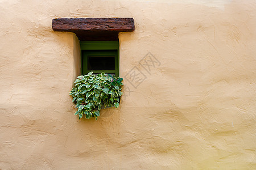
<path fill-rule="evenodd" d="M 53 31 L 74 32 L 80 40 L 118 40 L 118 32 L 134 31 L 133 18 L 57 18 Z"/>

